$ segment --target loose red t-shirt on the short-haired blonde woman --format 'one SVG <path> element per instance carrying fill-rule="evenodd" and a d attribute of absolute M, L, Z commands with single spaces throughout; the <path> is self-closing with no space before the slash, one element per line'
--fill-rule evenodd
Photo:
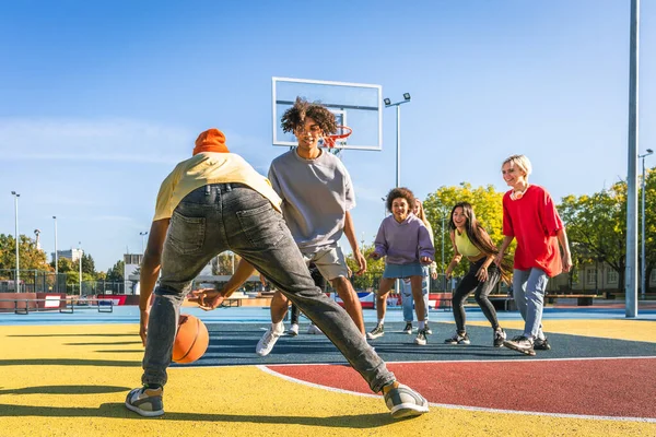
<path fill-rule="evenodd" d="M 503 197 L 503 235 L 517 239 L 515 269 L 538 268 L 549 277 L 563 269 L 557 233 L 563 221 L 551 196 L 540 186 L 528 187 L 522 199 L 512 200 L 511 191 Z"/>

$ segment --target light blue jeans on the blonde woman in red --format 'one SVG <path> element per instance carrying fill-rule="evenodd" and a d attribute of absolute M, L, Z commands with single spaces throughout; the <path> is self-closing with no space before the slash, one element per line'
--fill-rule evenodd
<path fill-rule="evenodd" d="M 513 272 L 513 295 L 522 318 L 524 319 L 524 336 L 543 339 L 542 309 L 544 308 L 544 291 L 549 276 L 540 269 L 517 270 Z"/>

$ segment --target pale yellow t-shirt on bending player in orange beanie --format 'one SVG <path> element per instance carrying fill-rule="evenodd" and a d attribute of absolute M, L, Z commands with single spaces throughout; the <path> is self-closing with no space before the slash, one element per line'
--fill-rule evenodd
<path fill-rule="evenodd" d="M 234 153 L 203 152 L 179 163 L 164 179 L 157 193 L 153 221 L 171 218 L 173 210 L 195 189 L 227 182 L 247 185 L 281 211 L 282 200 L 271 188 L 269 179 L 257 173 L 246 160 Z"/>

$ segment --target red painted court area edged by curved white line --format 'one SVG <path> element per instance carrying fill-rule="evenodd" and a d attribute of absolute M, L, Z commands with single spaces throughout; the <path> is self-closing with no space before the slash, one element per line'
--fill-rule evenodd
<path fill-rule="evenodd" d="M 656 420 L 656 358 L 389 364 L 436 405 Z M 370 393 L 347 366 L 270 366 L 301 381 Z"/>

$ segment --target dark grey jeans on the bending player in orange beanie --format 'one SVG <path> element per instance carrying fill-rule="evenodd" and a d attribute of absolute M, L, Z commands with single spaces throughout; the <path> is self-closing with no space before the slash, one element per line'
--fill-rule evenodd
<path fill-rule="evenodd" d="M 396 379 L 347 311 L 315 286 L 282 214 L 245 185 L 212 184 L 191 191 L 171 217 L 148 324 L 143 383 L 166 383 L 180 305 L 191 281 L 225 250 L 239 255 L 289 297 L 374 392 Z"/>

